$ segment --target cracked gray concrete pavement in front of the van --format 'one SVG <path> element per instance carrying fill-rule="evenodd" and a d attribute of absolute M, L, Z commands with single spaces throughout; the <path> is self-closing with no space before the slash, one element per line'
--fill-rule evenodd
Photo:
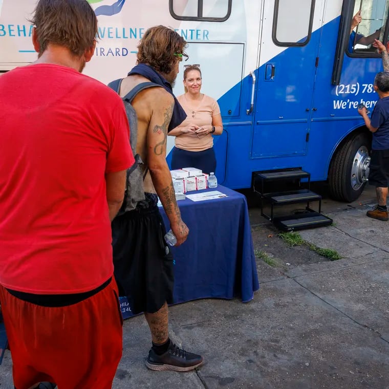
<path fill-rule="evenodd" d="M 389 388 L 389 224 L 365 217 L 366 209 L 337 210 L 333 226 L 300 232 L 342 260 L 269 268 L 246 304 L 204 299 L 171 307 L 170 337 L 204 356 L 197 371 L 147 370 L 146 322 L 126 320 L 113 387 Z M 13 389 L 9 352 L 0 384 Z"/>

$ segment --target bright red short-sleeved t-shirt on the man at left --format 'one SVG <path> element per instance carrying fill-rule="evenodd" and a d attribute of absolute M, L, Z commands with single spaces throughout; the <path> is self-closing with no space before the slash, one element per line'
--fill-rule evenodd
<path fill-rule="evenodd" d="M 104 174 L 134 163 L 120 97 L 54 64 L 0 76 L 0 284 L 81 293 L 113 275 Z"/>

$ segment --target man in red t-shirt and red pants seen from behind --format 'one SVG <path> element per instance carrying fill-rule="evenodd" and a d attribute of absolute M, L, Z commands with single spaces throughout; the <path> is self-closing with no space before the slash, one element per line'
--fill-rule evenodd
<path fill-rule="evenodd" d="M 40 0 L 38 59 L 0 77 L 0 301 L 16 389 L 111 388 L 122 354 L 111 221 L 134 163 L 120 97 L 81 74 L 96 16 Z"/>

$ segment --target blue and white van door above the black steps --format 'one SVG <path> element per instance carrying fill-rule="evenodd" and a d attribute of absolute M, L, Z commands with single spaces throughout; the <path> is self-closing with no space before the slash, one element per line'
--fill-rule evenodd
<path fill-rule="evenodd" d="M 323 3 L 265 1 L 251 158 L 307 154 Z"/>

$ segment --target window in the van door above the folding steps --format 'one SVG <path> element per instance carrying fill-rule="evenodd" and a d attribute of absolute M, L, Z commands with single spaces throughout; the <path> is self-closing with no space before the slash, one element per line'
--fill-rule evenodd
<path fill-rule="evenodd" d="M 277 46 L 305 46 L 312 33 L 315 0 L 276 0 L 273 18 L 273 42 Z M 293 15 L 293 16 L 292 16 Z"/>

